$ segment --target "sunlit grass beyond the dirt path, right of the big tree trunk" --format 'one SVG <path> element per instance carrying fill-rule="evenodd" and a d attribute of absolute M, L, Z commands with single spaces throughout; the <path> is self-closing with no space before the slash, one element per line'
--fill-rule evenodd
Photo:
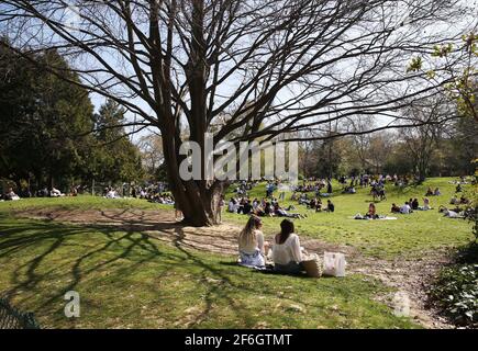
<path fill-rule="evenodd" d="M 470 224 L 460 219 L 444 218 L 437 212 L 438 206 L 446 205 L 455 193 L 455 185 L 449 184 L 449 180 L 452 179 L 431 179 L 424 185 L 407 188 L 402 191 L 392 185 L 388 186 L 388 201 L 378 203 L 377 212 L 381 215 L 398 216 L 398 220 L 351 219 L 351 216 L 357 213 L 365 214 L 368 211 L 371 201 L 369 190 L 358 190 L 355 195 L 343 195 L 338 184 L 334 183 L 334 214 L 315 214 L 293 203 L 298 212 L 307 213 L 309 216 L 307 219 L 296 220 L 297 231 L 302 236 L 323 241 L 354 246 L 365 254 L 387 259 L 402 256 L 418 258 L 423 251 L 462 246 L 473 238 Z M 422 203 L 427 186 L 433 189 L 440 186 L 443 194 L 438 197 L 430 197 L 434 211 L 416 212 L 408 216 L 389 213 L 392 203 L 400 205 L 410 197 L 418 197 Z M 265 185 L 256 186 L 251 195 L 253 199 L 263 197 Z M 287 194 L 286 199 L 290 199 L 290 194 Z M 292 202 L 286 201 L 286 206 Z M 246 220 L 241 215 L 226 214 L 224 217 L 237 224 L 245 224 Z M 266 218 L 265 231 L 276 233 L 280 220 L 280 218 Z"/>

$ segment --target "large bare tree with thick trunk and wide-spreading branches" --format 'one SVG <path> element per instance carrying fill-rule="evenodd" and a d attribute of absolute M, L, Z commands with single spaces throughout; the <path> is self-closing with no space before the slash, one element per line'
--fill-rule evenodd
<path fill-rule="evenodd" d="M 142 126 L 158 128 L 175 199 L 187 223 L 203 226 L 213 223 L 225 184 L 181 180 L 181 124 L 202 147 L 212 131 L 214 144 L 284 133 L 300 140 L 301 131 L 312 132 L 309 139 L 327 138 L 330 123 L 357 115 L 378 121 L 360 133 L 423 124 L 400 112 L 440 94 L 447 83 L 440 72 L 448 67 L 433 67 L 433 81 L 405 67 L 415 54 L 458 43 L 476 26 L 475 18 L 462 21 L 470 10 L 460 3 L 7 0 L 0 29 L 8 37 L 2 45 L 18 55 L 58 50 L 82 86 L 136 113 Z M 452 22 L 463 29 L 451 30 Z M 462 54 L 443 65 L 455 65 Z M 63 76 L 58 67 L 46 69 Z M 224 115 L 226 123 L 218 124 Z M 338 125 L 333 137 L 354 134 Z"/>

